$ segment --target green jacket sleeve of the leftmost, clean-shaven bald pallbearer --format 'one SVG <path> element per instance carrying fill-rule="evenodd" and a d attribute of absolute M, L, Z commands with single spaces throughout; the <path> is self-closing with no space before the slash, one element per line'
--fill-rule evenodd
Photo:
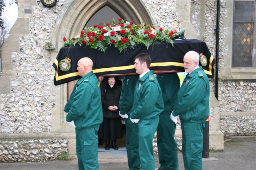
<path fill-rule="evenodd" d="M 66 121 L 68 122 L 77 119 L 79 116 L 85 113 L 93 96 L 92 87 L 88 83 L 85 82 L 80 86 L 81 87 L 78 87 L 75 92 L 73 104 L 66 116 Z"/>

